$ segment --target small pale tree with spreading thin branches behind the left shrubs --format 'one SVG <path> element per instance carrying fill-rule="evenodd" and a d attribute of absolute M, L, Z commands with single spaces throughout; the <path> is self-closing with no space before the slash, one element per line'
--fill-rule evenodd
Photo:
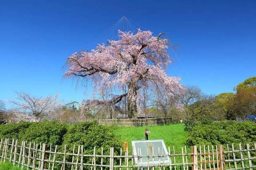
<path fill-rule="evenodd" d="M 41 119 L 48 119 L 58 103 L 57 95 L 55 97 L 47 96 L 43 98 L 32 96 L 25 92 L 16 92 L 16 94 L 17 100 L 10 101 L 16 106 L 16 109 L 24 113 L 30 113 L 38 118 L 41 117 Z"/>

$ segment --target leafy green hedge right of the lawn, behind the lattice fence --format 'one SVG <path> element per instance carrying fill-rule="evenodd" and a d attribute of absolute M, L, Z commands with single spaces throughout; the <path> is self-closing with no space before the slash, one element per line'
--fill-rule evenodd
<path fill-rule="evenodd" d="M 186 145 L 226 145 L 253 143 L 256 141 L 256 123 L 253 122 L 211 122 L 197 123 L 186 139 Z"/>

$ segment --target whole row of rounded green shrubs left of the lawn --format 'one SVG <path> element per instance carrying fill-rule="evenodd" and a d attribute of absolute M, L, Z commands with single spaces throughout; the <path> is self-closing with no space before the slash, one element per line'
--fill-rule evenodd
<path fill-rule="evenodd" d="M 98 122 L 82 122 L 72 125 L 58 123 L 57 121 L 44 121 L 41 123 L 20 122 L 17 124 L 0 125 L 0 138 L 14 138 L 36 143 L 58 145 L 68 149 L 72 146 L 83 144 L 84 152 L 92 153 L 94 146 L 120 148 L 121 140 L 114 134 L 110 127 L 99 125 Z"/>

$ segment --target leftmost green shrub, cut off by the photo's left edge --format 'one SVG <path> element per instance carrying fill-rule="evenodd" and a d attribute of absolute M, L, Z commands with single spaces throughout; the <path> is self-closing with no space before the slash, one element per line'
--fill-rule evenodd
<path fill-rule="evenodd" d="M 19 138 L 32 124 L 33 123 L 30 122 L 20 122 L 16 124 L 0 125 L 0 138 Z"/>

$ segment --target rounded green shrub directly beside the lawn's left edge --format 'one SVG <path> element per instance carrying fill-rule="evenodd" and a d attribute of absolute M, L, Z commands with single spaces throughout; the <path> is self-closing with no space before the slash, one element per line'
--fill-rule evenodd
<path fill-rule="evenodd" d="M 64 135 L 63 145 L 67 145 L 68 152 L 72 152 L 73 145 L 83 145 L 84 154 L 93 154 L 94 146 L 96 146 L 96 154 L 101 154 L 101 147 L 104 154 L 110 153 L 110 147 L 115 148 L 115 154 L 120 154 L 122 142 L 115 135 L 112 128 L 99 125 L 98 122 L 81 122 L 70 125 L 68 132 Z M 71 159 L 66 157 L 66 159 Z M 91 162 L 85 158 L 85 162 Z M 100 158 L 96 162 L 100 163 Z M 109 159 L 103 159 L 103 164 L 108 164 Z"/>

